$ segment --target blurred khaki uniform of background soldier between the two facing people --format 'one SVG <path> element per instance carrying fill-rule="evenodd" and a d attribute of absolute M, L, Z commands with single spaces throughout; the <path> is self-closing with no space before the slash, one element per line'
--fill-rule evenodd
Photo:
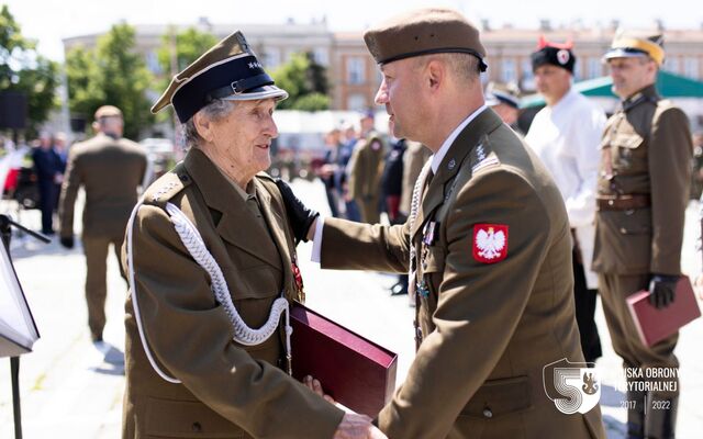
<path fill-rule="evenodd" d="M 371 145 L 380 143 L 375 149 Z M 356 201 L 361 222 L 375 224 L 380 219 L 381 175 L 383 172 L 383 140 L 375 133 L 357 142 L 349 159 L 349 196 Z"/>

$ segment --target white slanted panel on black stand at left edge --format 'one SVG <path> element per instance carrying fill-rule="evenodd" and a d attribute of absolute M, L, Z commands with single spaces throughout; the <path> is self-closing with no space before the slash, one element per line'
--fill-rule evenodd
<path fill-rule="evenodd" d="M 31 352 L 40 334 L 7 249 L 0 243 L 0 358 Z"/>

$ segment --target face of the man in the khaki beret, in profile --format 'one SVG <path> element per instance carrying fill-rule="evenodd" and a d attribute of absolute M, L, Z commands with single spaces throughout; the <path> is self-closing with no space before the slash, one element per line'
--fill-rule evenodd
<path fill-rule="evenodd" d="M 414 58 L 405 58 L 381 67 L 383 80 L 376 93 L 376 103 L 386 105 L 397 138 L 419 139 L 423 126 L 424 100 Z"/>

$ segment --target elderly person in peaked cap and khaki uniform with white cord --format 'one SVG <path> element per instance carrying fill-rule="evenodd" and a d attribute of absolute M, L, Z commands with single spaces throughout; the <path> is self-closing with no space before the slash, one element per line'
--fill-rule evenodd
<path fill-rule="evenodd" d="M 237 32 L 152 109 L 174 105 L 190 149 L 127 226 L 124 438 L 382 437 L 288 374 L 293 228 L 312 219 L 290 218 L 261 172 L 287 97 Z"/>

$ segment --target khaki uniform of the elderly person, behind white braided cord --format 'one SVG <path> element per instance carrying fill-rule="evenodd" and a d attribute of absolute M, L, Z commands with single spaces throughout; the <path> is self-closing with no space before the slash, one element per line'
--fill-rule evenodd
<path fill-rule="evenodd" d="M 149 364 L 132 293 L 125 306 L 124 438 L 326 439 L 342 420 L 342 410 L 281 370 L 282 329 L 258 346 L 233 341 L 208 274 L 165 211 L 172 203 L 198 227 L 235 307 L 258 328 L 281 292 L 303 297 L 291 270 L 293 238 L 280 193 L 266 175 L 252 184 L 255 196 L 245 201 L 201 150 L 191 149 L 146 192 L 134 223 L 136 300 L 150 351 L 182 383 L 165 381 Z"/>

